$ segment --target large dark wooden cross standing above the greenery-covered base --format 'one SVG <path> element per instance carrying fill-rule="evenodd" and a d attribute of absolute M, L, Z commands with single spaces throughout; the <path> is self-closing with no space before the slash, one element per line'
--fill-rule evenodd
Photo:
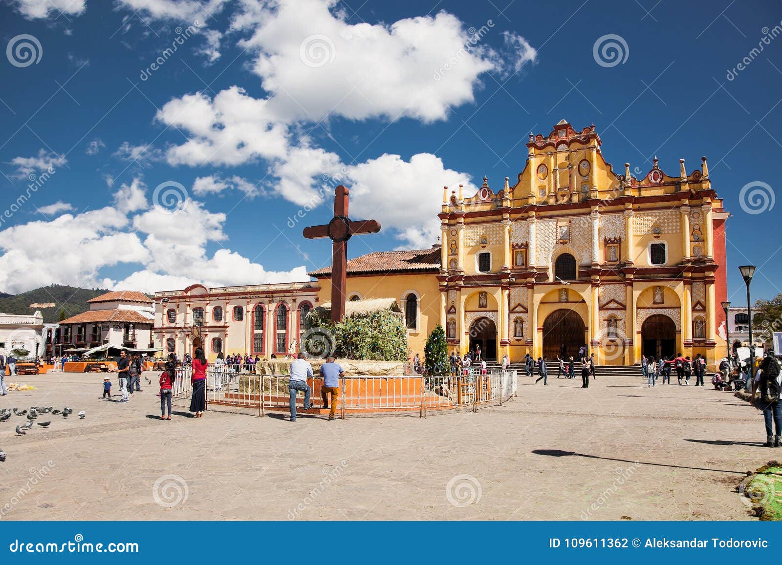
<path fill-rule="evenodd" d="M 376 234 L 380 223 L 375 220 L 350 220 L 347 216 L 350 191 L 340 184 L 334 191 L 334 217 L 321 226 L 305 227 L 307 239 L 329 238 L 332 244 L 332 322 L 345 316 L 345 286 L 347 284 L 347 240 L 353 235 Z"/>

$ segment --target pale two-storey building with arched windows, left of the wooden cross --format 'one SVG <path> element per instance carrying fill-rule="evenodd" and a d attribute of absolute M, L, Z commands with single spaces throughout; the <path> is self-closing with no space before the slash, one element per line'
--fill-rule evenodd
<path fill-rule="evenodd" d="M 301 282 L 156 292 L 155 346 L 180 358 L 199 347 L 212 360 L 219 352 L 285 356 L 298 351 L 317 291 Z"/>

